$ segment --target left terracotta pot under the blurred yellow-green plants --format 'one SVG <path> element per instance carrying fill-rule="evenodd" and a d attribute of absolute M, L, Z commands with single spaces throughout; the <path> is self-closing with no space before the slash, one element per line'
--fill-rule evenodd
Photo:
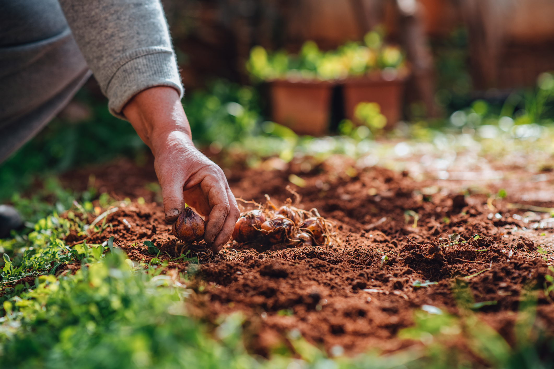
<path fill-rule="evenodd" d="M 330 82 L 271 82 L 271 110 L 276 123 L 297 134 L 322 136 L 329 128 Z"/>

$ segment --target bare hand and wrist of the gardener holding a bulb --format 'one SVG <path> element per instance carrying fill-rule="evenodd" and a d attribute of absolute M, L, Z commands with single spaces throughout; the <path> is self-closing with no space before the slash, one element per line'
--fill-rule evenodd
<path fill-rule="evenodd" d="M 166 220 L 176 221 L 186 202 L 205 217 L 204 241 L 219 252 L 240 212 L 221 168 L 194 147 L 177 91 L 161 86 L 144 90 L 123 113 L 154 154 Z"/>

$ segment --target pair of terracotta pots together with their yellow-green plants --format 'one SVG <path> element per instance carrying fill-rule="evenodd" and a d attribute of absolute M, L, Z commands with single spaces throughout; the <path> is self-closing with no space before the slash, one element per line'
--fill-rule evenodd
<path fill-rule="evenodd" d="M 365 44 L 348 42 L 336 50 L 321 51 L 306 41 L 299 54 L 268 53 L 255 46 L 247 64 L 254 80 L 270 83 L 273 120 L 299 134 L 327 132 L 332 87 L 344 86 L 346 117 L 355 116 L 360 102 L 376 102 L 389 123 L 398 120 L 407 67 L 402 51 L 386 45 L 376 31 Z"/>

